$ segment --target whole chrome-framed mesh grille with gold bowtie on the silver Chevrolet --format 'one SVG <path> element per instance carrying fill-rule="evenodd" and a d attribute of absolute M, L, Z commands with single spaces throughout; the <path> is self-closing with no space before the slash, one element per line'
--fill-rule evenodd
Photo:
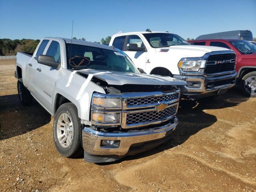
<path fill-rule="evenodd" d="M 170 93 L 150 92 L 122 95 L 122 128 L 160 124 L 171 119 L 178 110 L 180 90 Z"/>

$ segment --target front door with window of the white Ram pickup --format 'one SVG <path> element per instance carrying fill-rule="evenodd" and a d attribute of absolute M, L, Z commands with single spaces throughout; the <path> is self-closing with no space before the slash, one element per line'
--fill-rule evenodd
<path fill-rule="evenodd" d="M 127 44 L 137 44 L 138 47 L 146 47 L 138 35 L 129 35 Z M 132 59 L 137 68 L 142 68 L 145 71 L 148 52 L 128 51 L 127 44 L 124 46 L 124 52 Z"/>

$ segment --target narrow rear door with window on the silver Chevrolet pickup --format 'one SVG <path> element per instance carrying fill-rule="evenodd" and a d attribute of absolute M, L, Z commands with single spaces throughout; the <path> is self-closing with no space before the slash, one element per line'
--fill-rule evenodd
<path fill-rule="evenodd" d="M 48 44 L 49 40 L 43 40 L 38 47 L 38 50 L 36 52 L 36 55 L 30 60 L 30 62 L 26 66 L 26 85 L 28 86 L 28 89 L 30 92 L 34 95 L 36 90 L 35 90 L 35 78 L 36 78 L 36 68 L 38 66 L 37 58 L 39 55 L 42 55 L 44 52 L 44 49 L 46 48 L 46 45 Z"/>

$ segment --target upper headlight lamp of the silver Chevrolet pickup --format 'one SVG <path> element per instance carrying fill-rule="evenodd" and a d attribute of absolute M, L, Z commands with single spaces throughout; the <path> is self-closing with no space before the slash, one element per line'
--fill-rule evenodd
<path fill-rule="evenodd" d="M 102 108 L 121 108 L 121 98 L 104 98 L 94 96 L 92 105 Z"/>

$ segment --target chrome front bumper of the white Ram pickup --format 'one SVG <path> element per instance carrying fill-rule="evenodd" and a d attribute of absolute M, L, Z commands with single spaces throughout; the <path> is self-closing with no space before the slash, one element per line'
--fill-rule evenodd
<path fill-rule="evenodd" d="M 180 89 L 181 94 L 186 96 L 196 96 L 203 94 L 213 94 L 215 92 L 222 93 L 220 90 L 228 90 L 236 84 L 236 72 L 222 76 L 187 76 L 187 75 L 174 75 L 174 78 L 184 80 L 187 82 L 186 86 Z M 198 82 L 200 87 L 193 88 L 188 86 L 189 82 Z"/>

